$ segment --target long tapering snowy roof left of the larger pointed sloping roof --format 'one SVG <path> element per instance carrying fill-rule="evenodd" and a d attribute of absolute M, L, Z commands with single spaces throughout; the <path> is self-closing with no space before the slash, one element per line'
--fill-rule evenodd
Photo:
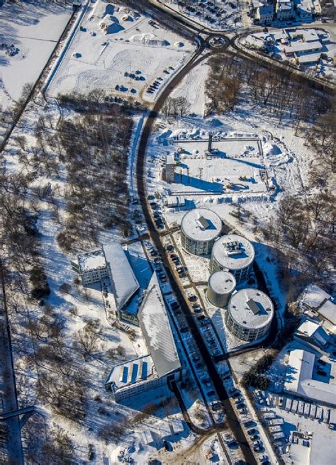
<path fill-rule="evenodd" d="M 118 242 L 103 245 L 103 252 L 113 288 L 113 295 L 118 310 L 121 310 L 138 291 L 139 283 L 125 255 L 125 250 Z"/>

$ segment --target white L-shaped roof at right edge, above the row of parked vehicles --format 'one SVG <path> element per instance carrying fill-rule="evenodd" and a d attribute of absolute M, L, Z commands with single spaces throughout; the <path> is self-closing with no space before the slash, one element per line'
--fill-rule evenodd
<path fill-rule="evenodd" d="M 315 355 L 295 349 L 289 354 L 284 391 L 318 402 L 336 405 L 336 385 L 312 379 Z"/>

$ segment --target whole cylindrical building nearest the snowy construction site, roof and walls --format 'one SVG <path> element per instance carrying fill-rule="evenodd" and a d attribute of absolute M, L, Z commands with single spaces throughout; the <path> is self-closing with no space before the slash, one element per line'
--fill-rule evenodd
<path fill-rule="evenodd" d="M 182 247 L 194 255 L 208 255 L 221 230 L 222 220 L 217 213 L 208 208 L 195 208 L 182 218 Z"/>

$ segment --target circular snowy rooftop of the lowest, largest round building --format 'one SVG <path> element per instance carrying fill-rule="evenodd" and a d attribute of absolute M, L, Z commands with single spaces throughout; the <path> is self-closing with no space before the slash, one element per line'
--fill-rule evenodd
<path fill-rule="evenodd" d="M 235 322 L 247 329 L 259 329 L 271 323 L 274 306 L 264 292 L 246 288 L 230 298 L 228 311 Z"/>

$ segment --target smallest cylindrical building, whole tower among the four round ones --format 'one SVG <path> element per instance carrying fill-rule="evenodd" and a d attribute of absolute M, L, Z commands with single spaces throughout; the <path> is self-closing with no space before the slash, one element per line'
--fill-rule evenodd
<path fill-rule="evenodd" d="M 226 307 L 235 290 L 235 276 L 228 271 L 216 271 L 208 279 L 206 296 L 215 307 Z"/>

